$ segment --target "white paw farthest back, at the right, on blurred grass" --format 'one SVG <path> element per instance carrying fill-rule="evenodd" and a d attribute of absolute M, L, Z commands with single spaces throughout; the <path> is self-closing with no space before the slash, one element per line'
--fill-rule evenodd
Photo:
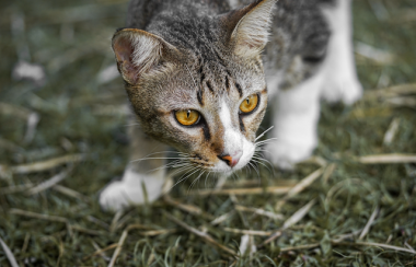
<path fill-rule="evenodd" d="M 324 82 L 323 98 L 330 103 L 353 105 L 362 96 L 361 83 L 356 78 L 338 78 Z"/>

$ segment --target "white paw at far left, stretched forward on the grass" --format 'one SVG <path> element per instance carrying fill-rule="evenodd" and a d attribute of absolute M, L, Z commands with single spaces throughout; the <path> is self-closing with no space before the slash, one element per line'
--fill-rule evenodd
<path fill-rule="evenodd" d="M 163 171 L 139 174 L 127 169 L 122 181 L 111 183 L 100 194 L 100 206 L 104 210 L 117 211 L 129 206 L 143 205 L 145 201 L 152 202 L 161 196 L 163 184 Z"/>

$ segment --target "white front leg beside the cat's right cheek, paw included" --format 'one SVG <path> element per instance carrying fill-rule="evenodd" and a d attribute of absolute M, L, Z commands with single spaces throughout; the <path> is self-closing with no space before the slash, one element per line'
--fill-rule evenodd
<path fill-rule="evenodd" d="M 319 73 L 293 89 L 281 90 L 271 101 L 273 139 L 265 146 L 265 156 L 276 166 L 291 169 L 315 149 L 322 82 Z"/>

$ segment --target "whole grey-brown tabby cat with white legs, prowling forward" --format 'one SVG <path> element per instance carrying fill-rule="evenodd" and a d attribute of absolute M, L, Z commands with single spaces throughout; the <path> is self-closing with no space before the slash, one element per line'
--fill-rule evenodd
<path fill-rule="evenodd" d="M 307 159 L 320 100 L 361 95 L 350 35 L 350 0 L 132 0 L 113 50 L 139 127 L 131 162 L 101 206 L 142 204 L 143 186 L 157 199 L 167 147 L 187 174 L 244 167 L 267 105 L 275 139 L 266 156 L 280 167 Z"/>

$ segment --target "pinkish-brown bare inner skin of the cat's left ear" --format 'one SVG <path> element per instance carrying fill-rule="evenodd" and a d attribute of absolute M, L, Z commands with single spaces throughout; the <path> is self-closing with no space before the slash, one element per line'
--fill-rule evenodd
<path fill-rule="evenodd" d="M 134 47 L 128 37 L 120 36 L 115 40 L 113 48 L 124 78 L 130 83 L 137 83 L 139 69 L 132 62 Z"/>

